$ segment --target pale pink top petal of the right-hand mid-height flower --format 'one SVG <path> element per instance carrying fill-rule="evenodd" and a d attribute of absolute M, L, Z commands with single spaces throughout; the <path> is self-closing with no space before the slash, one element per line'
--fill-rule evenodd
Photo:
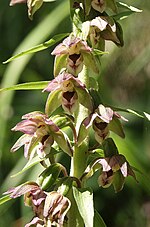
<path fill-rule="evenodd" d="M 112 120 L 114 112 L 113 112 L 113 110 L 111 108 L 104 107 L 102 104 L 100 104 L 99 107 L 98 107 L 98 111 L 100 113 L 99 117 L 104 122 L 109 123 Z"/>

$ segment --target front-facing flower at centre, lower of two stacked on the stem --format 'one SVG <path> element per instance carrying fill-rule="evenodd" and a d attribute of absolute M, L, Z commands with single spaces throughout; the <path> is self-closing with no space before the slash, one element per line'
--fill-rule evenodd
<path fill-rule="evenodd" d="M 44 91 L 51 92 L 46 103 L 47 115 L 50 115 L 60 105 L 71 114 L 77 108 L 78 103 L 81 103 L 90 111 L 92 110 L 92 101 L 85 85 L 69 73 L 59 74 Z"/>

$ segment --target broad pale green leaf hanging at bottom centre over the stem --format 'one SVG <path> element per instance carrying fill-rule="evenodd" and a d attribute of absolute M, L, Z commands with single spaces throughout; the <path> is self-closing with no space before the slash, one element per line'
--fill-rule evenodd
<path fill-rule="evenodd" d="M 80 215 L 82 216 L 85 227 L 93 226 L 94 207 L 93 207 L 93 192 L 89 188 L 79 189 L 73 187 L 74 199 Z"/>

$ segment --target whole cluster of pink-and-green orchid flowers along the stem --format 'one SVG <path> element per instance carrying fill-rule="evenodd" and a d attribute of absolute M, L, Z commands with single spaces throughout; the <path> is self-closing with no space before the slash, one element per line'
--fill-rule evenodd
<path fill-rule="evenodd" d="M 36 1 L 12 0 L 11 5 L 22 2 L 28 4 L 30 12 L 35 10 L 33 8 Z M 108 138 L 110 131 L 124 138 L 120 119 L 125 121 L 126 119 L 102 103 L 99 103 L 95 108 L 88 87 L 80 81 L 78 75 L 84 67 L 87 67 L 91 73 L 98 74 L 99 67 L 94 49 L 103 51 L 105 40 L 111 40 L 122 46 L 123 40 L 120 25 L 112 17 L 103 14 L 107 7 L 116 11 L 115 1 L 91 0 L 88 2 L 90 5 L 87 14 L 96 10 L 99 12 L 99 16 L 82 23 L 81 32 L 71 33 L 53 50 L 55 78 L 44 89 L 44 91 L 50 92 L 45 113 L 35 111 L 23 116 L 23 120 L 12 130 L 21 131 L 24 135 L 14 144 L 12 151 L 15 152 L 24 146 L 24 156 L 27 159 L 31 160 L 36 155 L 42 159 L 51 154 L 52 148 L 57 144 L 62 151 L 72 157 L 74 144 L 80 146 L 82 141 L 86 139 L 89 129 L 92 128 L 98 143 L 97 147 L 104 148 L 104 157 L 92 160 L 85 170 L 84 178 L 88 178 L 95 171 L 100 170 L 99 185 L 108 187 L 115 184 L 115 179 L 119 176 L 121 185 L 116 190 L 121 190 L 124 179 L 128 175 L 135 178 L 135 175 L 126 158 L 118 153 L 117 148 L 115 147 L 115 152 L 114 150 L 107 152 L 109 150 L 107 145 L 115 146 L 113 140 Z M 74 10 L 83 11 L 80 1 L 74 2 L 73 7 Z M 88 110 L 88 117 L 83 119 L 77 132 L 74 119 L 80 105 Z M 65 124 L 65 126 L 71 127 L 73 141 L 70 141 L 68 135 L 62 130 L 62 117 L 55 116 L 55 111 L 60 106 L 65 113 L 63 126 Z M 105 143 L 107 143 L 106 148 Z M 35 217 L 26 227 L 37 226 L 37 224 L 38 226 L 57 224 L 61 227 L 71 206 L 69 199 L 58 191 L 49 191 L 48 189 L 44 191 L 41 185 L 35 182 L 27 182 L 9 190 L 7 194 L 12 198 L 24 194 L 25 204 L 33 208 Z"/>

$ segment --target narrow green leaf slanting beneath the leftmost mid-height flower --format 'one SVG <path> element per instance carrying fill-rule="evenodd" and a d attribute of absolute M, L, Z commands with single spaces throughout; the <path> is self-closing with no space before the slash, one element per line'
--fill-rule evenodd
<path fill-rule="evenodd" d="M 39 156 L 36 156 L 36 157 L 32 158 L 31 160 L 29 160 L 27 162 L 27 164 L 23 167 L 23 169 L 21 171 L 19 171 L 16 174 L 13 174 L 11 177 L 16 177 L 16 176 L 24 173 L 25 171 L 27 171 L 31 167 L 35 166 L 36 164 L 42 162 L 43 160 L 45 160 L 45 158 L 41 159 L 41 158 L 39 158 Z"/>

